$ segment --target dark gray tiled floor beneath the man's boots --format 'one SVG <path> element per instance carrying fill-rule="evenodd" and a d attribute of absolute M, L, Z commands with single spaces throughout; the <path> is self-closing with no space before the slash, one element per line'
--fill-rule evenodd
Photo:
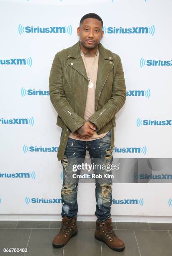
<path fill-rule="evenodd" d="M 65 247 L 53 248 L 60 221 L 0 221 L 0 256 L 172 256 L 172 224 L 113 223 L 125 242 L 123 252 L 112 251 L 94 238 L 95 222 L 77 222 L 78 234 Z M 5 253 L 3 248 L 27 248 L 27 253 Z"/>

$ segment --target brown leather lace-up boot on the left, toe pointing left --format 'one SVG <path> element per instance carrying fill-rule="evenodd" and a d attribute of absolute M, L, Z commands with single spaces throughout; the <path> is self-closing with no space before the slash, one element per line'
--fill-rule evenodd
<path fill-rule="evenodd" d="M 55 236 L 52 241 L 52 246 L 55 248 L 60 248 L 65 246 L 71 237 L 77 234 L 77 218 L 67 218 L 67 216 L 62 218 L 62 226 L 60 232 Z"/>

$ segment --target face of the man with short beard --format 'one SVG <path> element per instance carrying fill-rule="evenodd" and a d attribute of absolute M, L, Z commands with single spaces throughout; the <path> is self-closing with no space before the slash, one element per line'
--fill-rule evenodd
<path fill-rule="evenodd" d="M 95 18 L 87 18 L 77 28 L 80 43 L 85 49 L 95 49 L 103 37 L 102 24 Z"/>

